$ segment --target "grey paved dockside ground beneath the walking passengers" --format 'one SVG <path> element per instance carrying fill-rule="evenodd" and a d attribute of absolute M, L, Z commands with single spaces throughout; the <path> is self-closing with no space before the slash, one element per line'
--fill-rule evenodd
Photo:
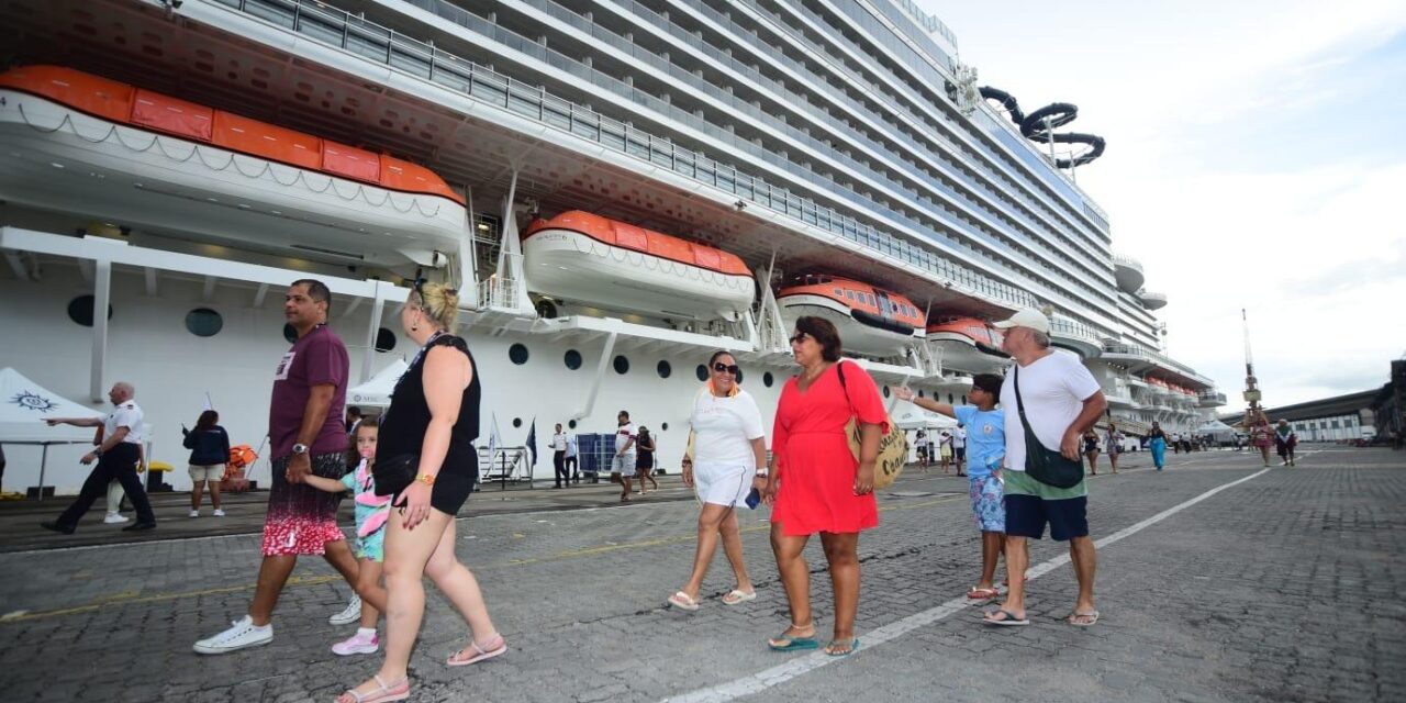
<path fill-rule="evenodd" d="M 1403 700 L 1406 673 L 1392 662 L 1406 655 L 1406 457 L 1305 449 L 1299 468 L 1275 468 L 1104 547 L 1092 628 L 1059 621 L 1074 595 L 1062 565 L 1031 582 L 1031 627 L 993 631 L 979 607 L 963 606 L 852 657 L 775 673 L 751 697 Z M 1163 474 L 1129 458 L 1132 471 L 1091 484 L 1095 537 L 1260 470 L 1237 453 L 1174 456 Z M 956 478 L 910 475 L 882 496 L 882 524 L 860 538 L 860 640 L 974 582 L 977 533 L 957 491 Z M 412 700 L 661 700 L 804 664 L 806 654 L 765 648 L 787 621 L 765 510 L 741 516 L 759 598 L 717 600 L 733 585 L 718 555 L 703 607 L 682 613 L 664 603 L 688 576 L 697 506 L 659 498 L 458 520 L 458 555 L 512 650 L 443 666 L 467 633 L 427 588 Z M 257 550 L 257 534 L 235 534 L 0 554 L 4 700 L 330 700 L 373 672 L 375 657 L 329 651 L 350 634 L 326 624 L 349 589 L 321 560 L 299 561 L 273 644 L 215 658 L 190 651 L 243 614 Z M 1032 558 L 1062 551 L 1036 543 Z M 832 607 L 818 544 L 807 558 L 824 636 Z"/>

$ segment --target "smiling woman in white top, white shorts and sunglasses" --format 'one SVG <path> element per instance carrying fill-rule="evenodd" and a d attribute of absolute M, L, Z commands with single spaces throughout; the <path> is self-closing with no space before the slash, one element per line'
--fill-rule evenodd
<path fill-rule="evenodd" d="M 723 551 L 737 574 L 737 588 L 723 596 L 723 603 L 735 606 L 756 598 L 742 562 L 742 537 L 734 509 L 747 501 L 754 488 L 759 491 L 766 484 L 762 413 L 752 395 L 738 388 L 733 354 L 714 352 L 707 368 L 709 382 L 695 396 L 689 418 L 692 451 L 683 456 L 683 485 L 693 486 L 703 502 L 699 543 L 693 575 L 683 589 L 669 596 L 669 605 L 683 610 L 699 609 L 699 591 L 720 534 Z"/>

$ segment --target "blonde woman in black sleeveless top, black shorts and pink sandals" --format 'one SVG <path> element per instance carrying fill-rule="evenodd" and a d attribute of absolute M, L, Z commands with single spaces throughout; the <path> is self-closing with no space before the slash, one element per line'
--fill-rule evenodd
<path fill-rule="evenodd" d="M 457 291 L 423 281 L 416 281 L 401 311 L 405 335 L 420 352 L 395 384 L 375 451 L 377 492 L 394 496 L 385 534 L 385 661 L 337 703 L 409 697 L 406 669 L 425 616 L 426 575 L 454 603 L 472 637 L 447 665 L 508 651 L 478 581 L 454 557 L 454 516 L 478 481 L 474 440 L 482 395 L 474 354 L 451 332 L 457 315 Z"/>

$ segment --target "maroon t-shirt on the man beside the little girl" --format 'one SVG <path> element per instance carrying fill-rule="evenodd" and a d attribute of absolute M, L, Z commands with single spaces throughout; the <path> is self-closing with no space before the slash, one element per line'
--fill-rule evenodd
<path fill-rule="evenodd" d="M 347 347 L 326 325 L 319 325 L 292 343 L 292 349 L 278 360 L 274 371 L 273 401 L 269 406 L 269 441 L 273 458 L 292 454 L 302 429 L 302 413 L 314 385 L 332 384 L 332 406 L 322 420 L 318 437 L 312 440 L 312 454 L 346 451 L 347 430 L 342 425 L 347 396 Z"/>

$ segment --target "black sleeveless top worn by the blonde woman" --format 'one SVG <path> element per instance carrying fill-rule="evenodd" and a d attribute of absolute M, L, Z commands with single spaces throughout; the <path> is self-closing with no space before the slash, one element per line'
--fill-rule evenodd
<path fill-rule="evenodd" d="M 432 347 L 454 347 L 468 357 L 472 364 L 474 378 L 464 388 L 464 396 L 458 404 L 458 419 L 450 430 L 449 453 L 440 471 L 453 471 L 460 475 L 478 474 L 478 450 L 474 440 L 478 439 L 478 405 L 482 398 L 482 387 L 478 382 L 478 364 L 474 364 L 474 354 L 468 352 L 468 344 L 463 337 L 454 335 L 440 335 L 411 361 L 401 380 L 395 382 L 391 392 L 391 406 L 381 416 L 381 433 L 375 443 L 375 458 L 398 457 L 401 454 L 419 454 L 425 444 L 425 432 L 430 426 L 430 406 L 425 401 L 425 356 Z"/>

